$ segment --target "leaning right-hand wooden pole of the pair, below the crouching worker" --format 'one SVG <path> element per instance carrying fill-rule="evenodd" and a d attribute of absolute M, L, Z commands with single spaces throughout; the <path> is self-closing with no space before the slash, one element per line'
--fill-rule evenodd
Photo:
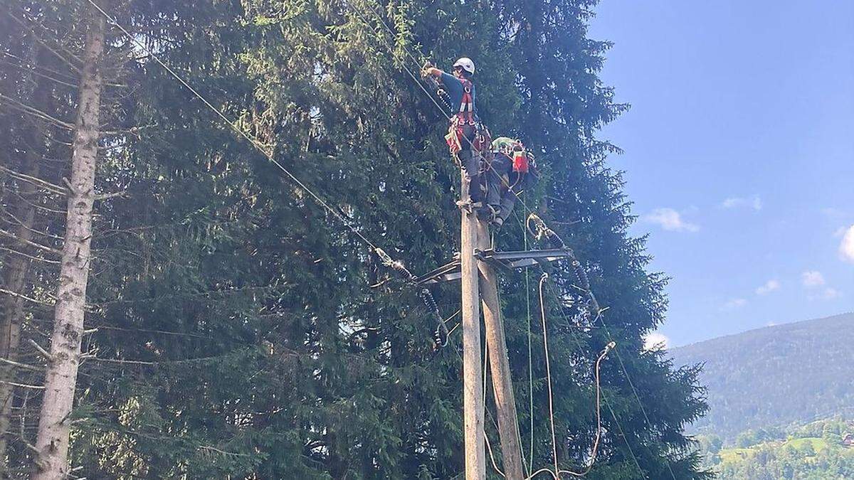
<path fill-rule="evenodd" d="M 477 249 L 492 248 L 487 223 L 477 220 Z M 498 277 L 493 266 L 484 261 L 477 262 L 480 270 L 480 293 L 483 297 L 483 325 L 489 350 L 489 372 L 492 374 L 492 389 L 495 408 L 498 412 L 498 431 L 501 437 L 501 458 L 504 459 L 504 475 L 507 480 L 522 480 L 522 448 L 516 417 L 516 400 L 507 358 L 507 343 L 504 323 L 498 301 Z M 485 379 L 484 379 L 485 381 Z"/>

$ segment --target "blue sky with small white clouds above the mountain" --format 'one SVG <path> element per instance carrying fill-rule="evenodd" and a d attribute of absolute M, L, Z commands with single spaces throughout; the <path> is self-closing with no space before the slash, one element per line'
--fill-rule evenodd
<path fill-rule="evenodd" d="M 854 310 L 854 2 L 604 0 L 590 36 L 671 346 Z M 854 325 L 851 325 L 854 328 Z"/>

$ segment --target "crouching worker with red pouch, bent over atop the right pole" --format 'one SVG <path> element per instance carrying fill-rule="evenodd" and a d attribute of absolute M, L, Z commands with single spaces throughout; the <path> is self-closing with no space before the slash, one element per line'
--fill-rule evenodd
<path fill-rule="evenodd" d="M 536 183 L 536 166 L 534 155 L 513 138 L 495 138 L 490 154 L 486 207 L 479 214 L 483 220 L 500 228 L 512 214 L 516 196 Z"/>

